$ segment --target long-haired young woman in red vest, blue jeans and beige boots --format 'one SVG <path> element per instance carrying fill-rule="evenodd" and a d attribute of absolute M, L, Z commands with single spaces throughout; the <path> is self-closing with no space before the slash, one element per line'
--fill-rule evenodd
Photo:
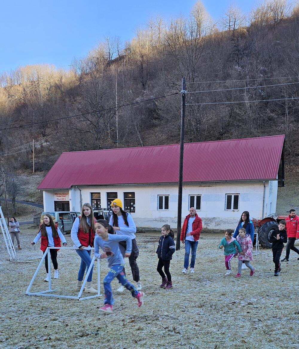
<path fill-rule="evenodd" d="M 71 239 L 74 247 L 77 247 L 76 252 L 81 258 L 81 264 L 78 272 L 78 280 L 75 290 L 80 291 L 85 270 L 89 269 L 91 263 L 91 250 L 88 247 L 93 247 L 95 235 L 94 223 L 97 220 L 93 216 L 93 210 L 89 203 L 82 206 L 81 216 L 77 217 L 71 229 Z M 91 285 L 92 270 L 87 278 L 85 291 L 86 293 L 98 293 Z"/>

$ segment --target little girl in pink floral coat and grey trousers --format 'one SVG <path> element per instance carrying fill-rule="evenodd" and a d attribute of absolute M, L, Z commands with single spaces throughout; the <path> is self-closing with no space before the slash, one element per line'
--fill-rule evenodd
<path fill-rule="evenodd" d="M 246 265 L 246 267 L 248 267 L 250 269 L 250 276 L 253 275 L 254 273 L 254 268 L 253 266 L 250 264 L 249 261 L 252 261 L 252 241 L 249 235 L 246 235 L 246 229 L 241 228 L 239 230 L 239 235 L 237 236 L 237 241 L 240 244 L 241 248 L 242 248 L 242 252 L 239 252 L 239 257 L 238 257 L 238 273 L 235 277 L 240 277 L 242 276 L 242 264 L 243 261 Z"/>

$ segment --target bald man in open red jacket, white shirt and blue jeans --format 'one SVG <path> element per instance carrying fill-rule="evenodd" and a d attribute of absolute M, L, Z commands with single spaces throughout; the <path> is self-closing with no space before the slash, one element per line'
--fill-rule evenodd
<path fill-rule="evenodd" d="M 186 274 L 189 267 L 189 255 L 191 250 L 191 273 L 194 273 L 196 249 L 198 245 L 198 239 L 202 230 L 201 218 L 198 217 L 194 207 L 190 207 L 189 215 L 186 216 L 183 228 L 181 231 L 181 241 L 185 244 L 185 259 L 184 269 L 182 273 Z"/>

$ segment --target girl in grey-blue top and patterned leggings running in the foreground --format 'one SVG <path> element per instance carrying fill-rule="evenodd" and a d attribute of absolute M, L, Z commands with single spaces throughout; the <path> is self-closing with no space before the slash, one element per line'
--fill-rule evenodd
<path fill-rule="evenodd" d="M 130 257 L 132 252 L 132 239 L 130 236 L 114 235 L 113 228 L 107 223 L 106 220 L 98 220 L 95 223 L 96 237 L 94 239 L 94 255 L 96 258 L 107 258 L 107 264 L 109 267 L 108 274 L 106 275 L 103 284 L 105 290 L 104 306 L 100 308 L 105 313 L 112 313 L 114 299 L 112 296 L 111 281 L 116 277 L 123 287 L 128 289 L 132 296 L 138 300 L 138 306 L 143 305 L 143 292 L 138 290 L 126 280 L 124 273 L 124 259 L 120 251 L 118 243 L 121 241 L 126 242 L 126 250 L 124 257 Z M 112 235 L 113 234 L 113 235 Z M 99 247 L 101 247 L 103 253 L 99 253 Z"/>

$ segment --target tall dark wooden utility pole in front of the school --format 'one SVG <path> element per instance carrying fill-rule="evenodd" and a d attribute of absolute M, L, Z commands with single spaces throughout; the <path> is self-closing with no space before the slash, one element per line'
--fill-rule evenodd
<path fill-rule="evenodd" d="M 177 205 L 177 235 L 176 251 L 181 248 L 182 229 L 182 196 L 183 196 L 183 156 L 184 156 L 184 133 L 185 133 L 185 109 L 186 109 L 186 78 L 182 78 L 182 108 L 181 108 L 181 139 L 179 146 L 179 179 L 178 179 L 178 205 Z"/>

